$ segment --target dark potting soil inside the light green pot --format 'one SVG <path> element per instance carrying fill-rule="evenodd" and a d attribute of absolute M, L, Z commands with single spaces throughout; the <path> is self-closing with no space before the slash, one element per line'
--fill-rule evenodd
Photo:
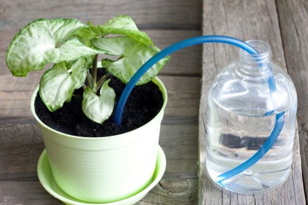
<path fill-rule="evenodd" d="M 98 69 L 98 79 L 105 74 L 104 69 Z M 62 108 L 50 112 L 44 105 L 40 95 L 35 98 L 36 115 L 48 127 L 62 133 L 83 136 L 103 137 L 122 134 L 137 129 L 153 119 L 163 106 L 163 95 L 159 87 L 150 81 L 142 86 L 135 86 L 127 100 L 122 125 L 114 124 L 114 113 L 118 100 L 124 90 L 125 84 L 119 79 L 109 75 L 109 86 L 113 88 L 116 97 L 115 104 L 109 119 L 103 124 L 91 121 L 82 111 L 82 99 L 72 96 L 69 103 Z M 74 95 L 82 97 L 83 89 L 74 91 Z"/>

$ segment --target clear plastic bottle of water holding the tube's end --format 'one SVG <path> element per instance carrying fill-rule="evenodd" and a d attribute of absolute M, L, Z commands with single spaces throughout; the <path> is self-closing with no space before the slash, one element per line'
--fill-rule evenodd
<path fill-rule="evenodd" d="M 252 167 L 220 183 L 229 191 L 252 194 L 279 186 L 290 174 L 297 95 L 288 74 L 271 63 L 269 45 L 261 40 L 246 43 L 260 55 L 240 50 L 239 60 L 225 67 L 209 90 L 206 166 L 211 179 L 217 181 L 219 175 L 252 157 L 271 134 L 276 114 L 285 111 L 273 147 Z M 267 83 L 272 73 L 273 93 Z M 274 112 L 266 115 L 268 111 Z"/>

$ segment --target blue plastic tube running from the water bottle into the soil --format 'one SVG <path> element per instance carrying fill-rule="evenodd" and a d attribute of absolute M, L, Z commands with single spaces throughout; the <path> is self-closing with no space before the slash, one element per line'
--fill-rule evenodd
<path fill-rule="evenodd" d="M 145 64 L 143 64 L 140 69 L 131 77 L 129 80 L 128 84 L 123 90 L 123 93 L 120 97 L 117 110 L 115 110 L 115 124 L 121 125 L 122 122 L 122 115 L 123 115 L 123 110 L 127 101 L 127 98 L 133 89 L 133 87 L 136 85 L 138 80 L 148 71 L 153 65 L 155 65 L 159 60 L 162 58 L 166 57 L 167 55 L 176 52 L 180 49 L 189 47 L 189 46 L 194 46 L 198 44 L 204 44 L 204 43 L 224 43 L 224 44 L 230 44 L 233 46 L 237 46 L 245 51 L 247 51 L 249 54 L 252 55 L 258 55 L 258 51 L 256 51 L 252 46 L 249 44 L 243 42 L 242 40 L 239 40 L 237 38 L 229 37 L 229 36 L 222 36 L 222 35 L 204 35 L 204 36 L 197 36 L 197 37 L 192 37 L 188 38 L 185 40 L 182 40 L 176 44 L 173 44 L 164 50 L 160 51 L 153 57 L 151 57 L 148 61 L 146 61 Z M 262 64 L 259 64 L 262 66 Z M 270 69 L 270 68 L 269 68 Z M 271 72 L 272 73 L 272 72 Z M 267 80 L 267 85 L 269 88 L 269 92 L 273 93 L 276 91 L 276 84 L 274 80 L 273 73 L 269 76 Z M 265 115 L 270 115 L 274 113 L 273 110 L 267 111 Z M 232 178 L 233 176 L 243 172 L 244 170 L 248 169 L 249 167 L 253 166 L 259 159 L 261 159 L 265 153 L 271 149 L 271 147 L 274 145 L 277 137 L 280 134 L 280 131 L 283 127 L 284 124 L 284 112 L 278 113 L 276 115 L 276 122 L 275 122 L 275 127 L 267 138 L 267 140 L 264 142 L 263 146 L 254 154 L 251 158 L 247 159 L 243 163 L 241 163 L 239 166 L 233 168 L 232 170 L 229 170 L 221 175 L 219 175 L 216 178 L 216 181 L 220 183 L 221 185 L 222 182 L 226 179 Z"/>

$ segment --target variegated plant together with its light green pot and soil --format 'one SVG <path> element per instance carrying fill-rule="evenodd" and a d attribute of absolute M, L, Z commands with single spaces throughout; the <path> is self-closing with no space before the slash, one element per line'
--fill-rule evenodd
<path fill-rule="evenodd" d="M 169 57 L 140 79 L 131 100 L 137 105 L 125 110 L 121 127 L 113 122 L 113 108 L 124 84 L 159 51 L 126 15 L 103 25 L 41 18 L 14 36 L 6 54 L 14 76 L 53 63 L 33 93 L 31 111 L 54 179 L 67 194 L 88 202 L 117 201 L 151 179 L 167 102 L 156 75 Z M 98 54 L 118 58 L 98 64 Z"/>

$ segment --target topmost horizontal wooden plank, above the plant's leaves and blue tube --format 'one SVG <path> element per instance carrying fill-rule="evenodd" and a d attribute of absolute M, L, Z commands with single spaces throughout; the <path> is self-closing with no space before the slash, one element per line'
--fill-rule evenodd
<path fill-rule="evenodd" d="M 131 16 L 141 28 L 197 29 L 201 25 L 202 2 L 198 0 L 2 0 L 1 29 L 15 30 L 36 18 L 78 18 L 103 24 L 113 16 Z M 192 12 L 193 11 L 193 12 Z"/>

